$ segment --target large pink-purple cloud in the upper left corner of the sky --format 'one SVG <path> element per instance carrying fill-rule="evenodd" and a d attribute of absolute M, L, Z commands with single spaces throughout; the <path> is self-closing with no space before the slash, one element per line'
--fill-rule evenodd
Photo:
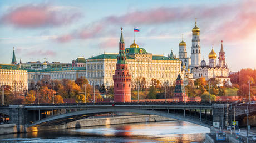
<path fill-rule="evenodd" d="M 17 28 L 37 28 L 59 26 L 79 19 L 82 14 L 75 9 L 54 8 L 47 4 L 27 4 L 13 8 L 3 14 L 1 23 L 13 25 Z"/>

